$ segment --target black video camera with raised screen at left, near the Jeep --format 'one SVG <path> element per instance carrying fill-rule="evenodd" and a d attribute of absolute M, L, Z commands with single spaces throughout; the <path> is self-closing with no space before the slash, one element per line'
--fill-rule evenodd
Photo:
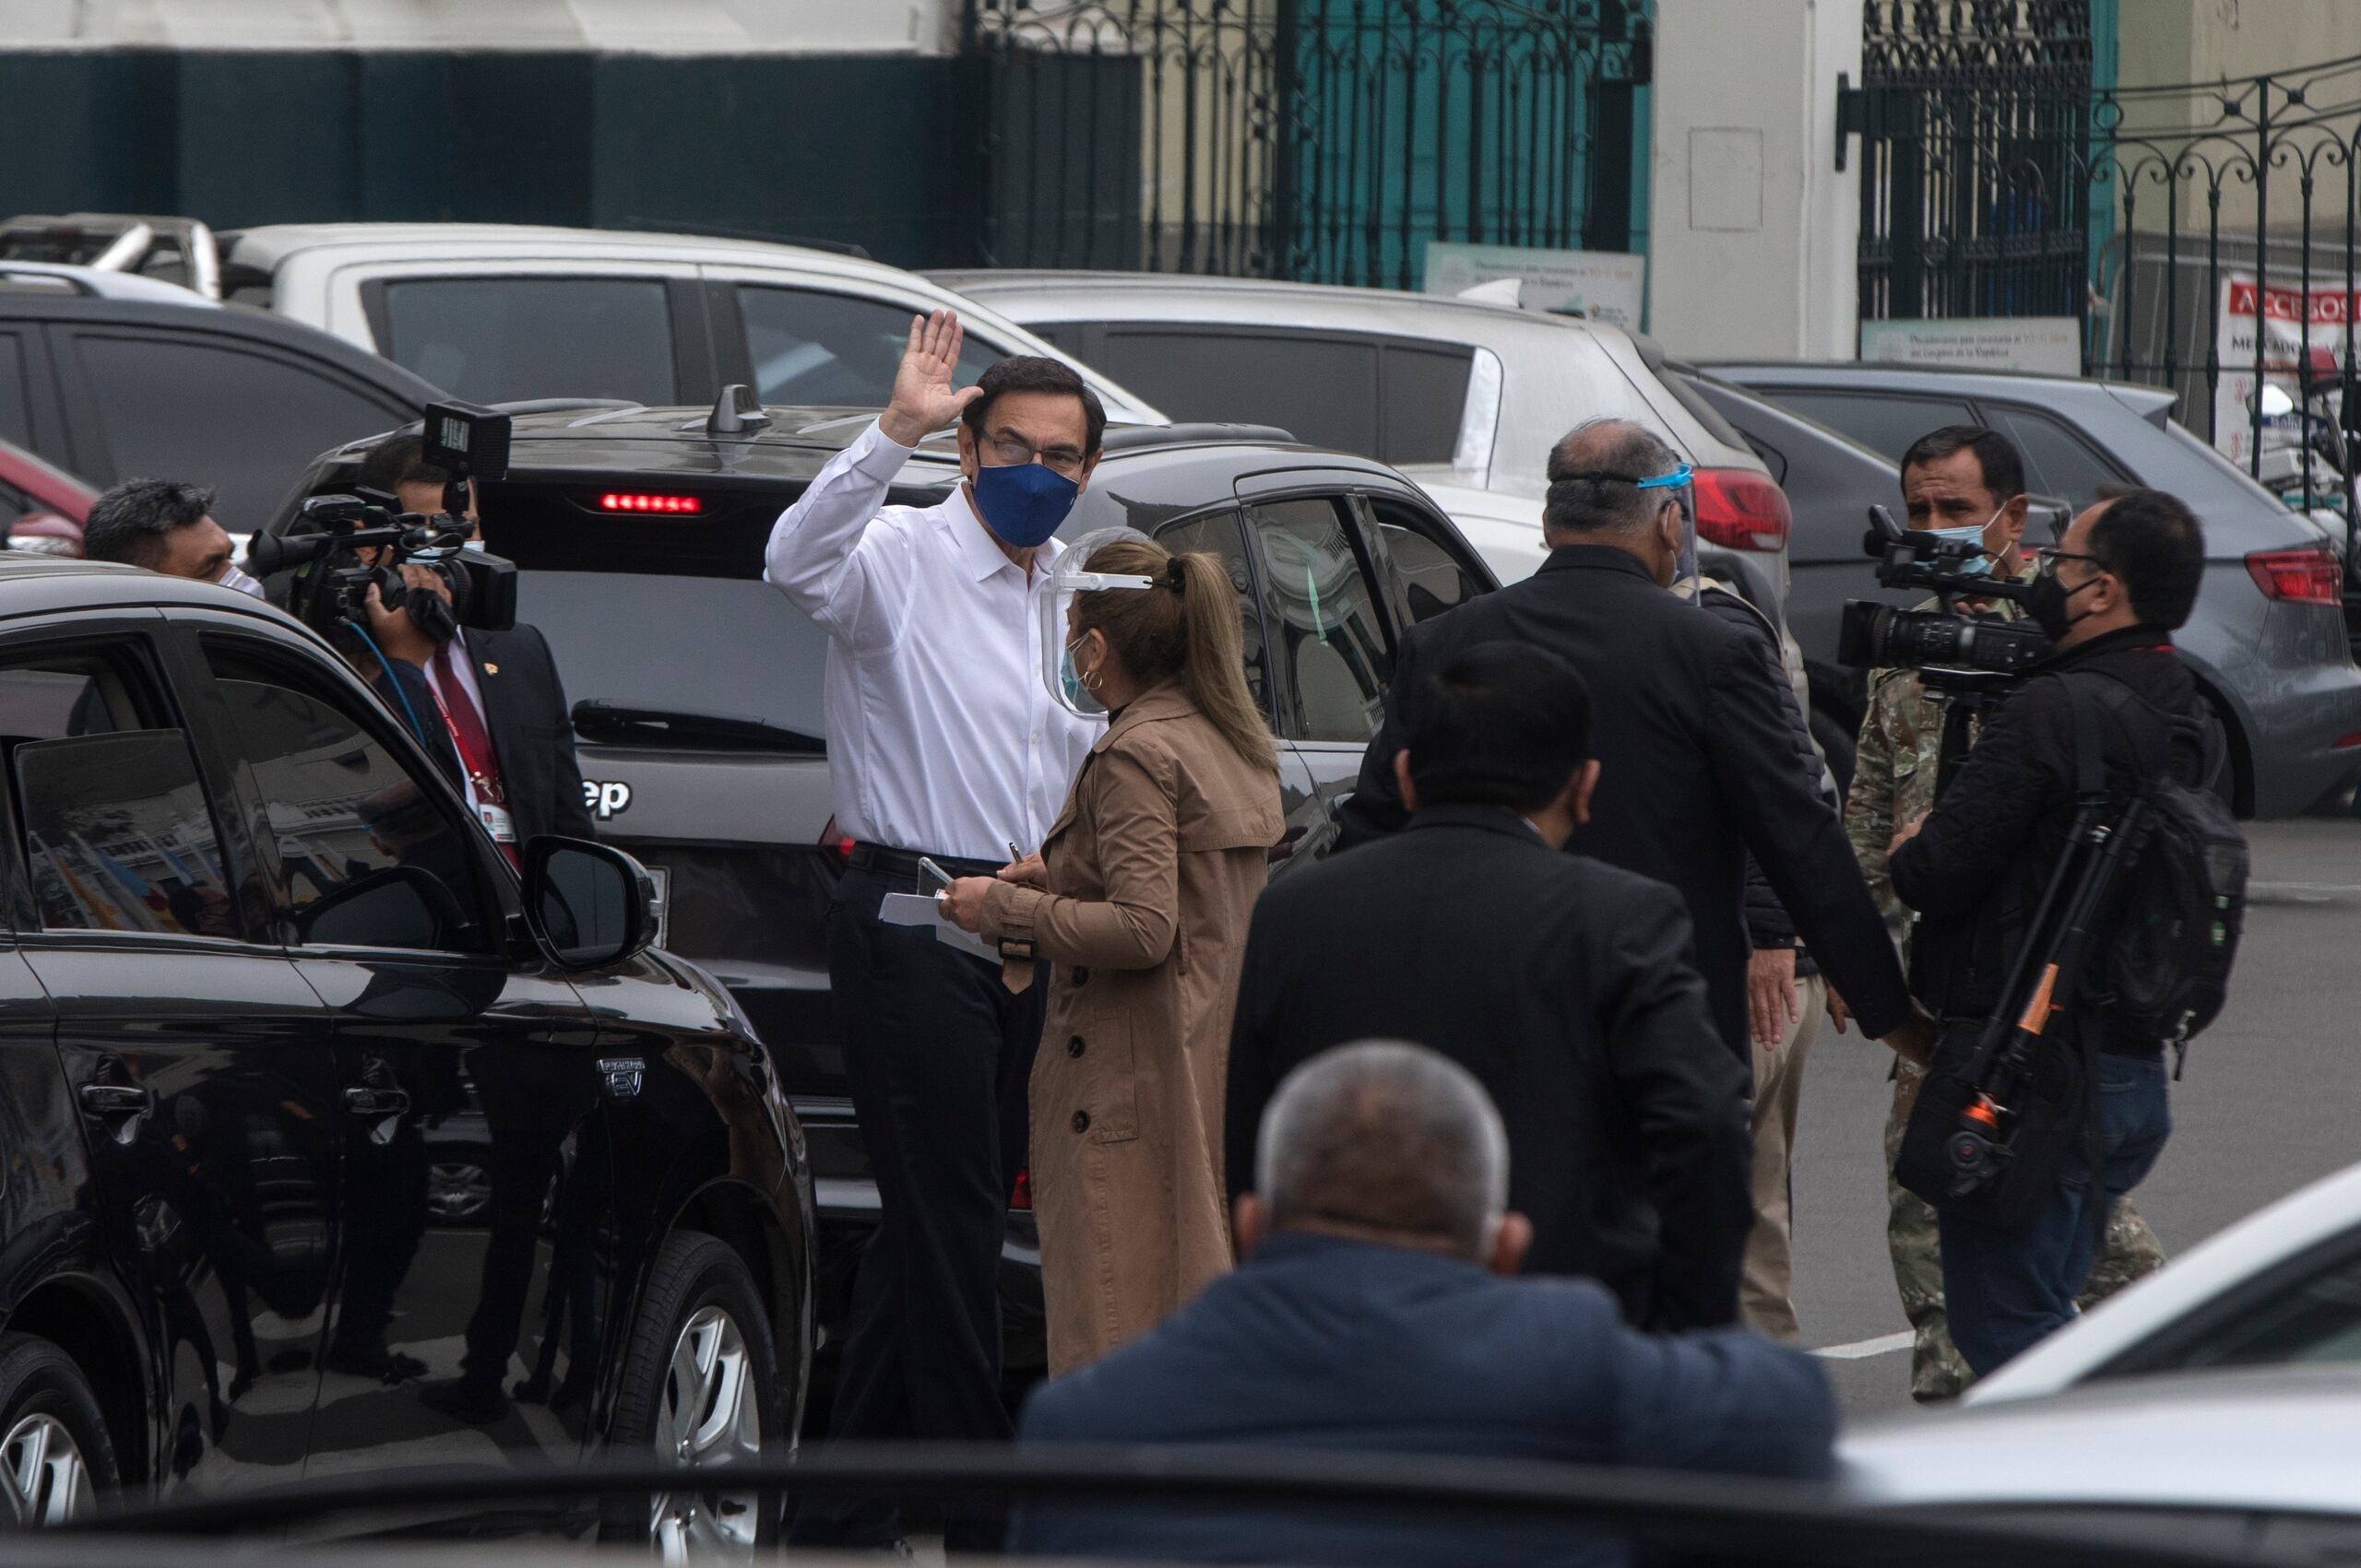
<path fill-rule="evenodd" d="M 508 416 L 475 404 L 427 404 L 425 463 L 442 468 L 439 512 L 404 512 L 394 496 L 359 489 L 342 496 L 312 496 L 302 503 L 286 534 L 262 534 L 246 560 L 257 576 L 293 571 L 288 614 L 319 633 L 342 626 L 368 628 L 368 590 L 387 609 L 406 612 L 423 633 L 449 642 L 460 626 L 508 631 L 517 623 L 515 562 L 470 550 L 467 510 L 470 479 L 508 475 Z M 373 562 L 361 550 L 378 550 Z M 451 590 L 411 590 L 401 567 L 418 564 L 442 576 Z"/>

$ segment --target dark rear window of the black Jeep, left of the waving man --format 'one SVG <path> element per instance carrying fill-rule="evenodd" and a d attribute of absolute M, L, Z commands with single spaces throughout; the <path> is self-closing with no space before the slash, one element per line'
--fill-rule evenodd
<path fill-rule="evenodd" d="M 569 701 L 730 713 L 826 737 L 829 638 L 767 583 L 519 571 L 517 619 L 550 640 Z M 619 626 L 652 638 L 616 635 Z"/>

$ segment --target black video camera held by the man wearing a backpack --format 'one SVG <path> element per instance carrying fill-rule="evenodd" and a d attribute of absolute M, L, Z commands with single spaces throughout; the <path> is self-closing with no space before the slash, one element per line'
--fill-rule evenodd
<path fill-rule="evenodd" d="M 1856 668 L 1945 668 L 2014 675 L 2049 654 L 2049 638 L 2030 621 L 1962 616 L 1960 600 L 2016 600 L 2033 595 L 1990 571 L 1990 553 L 1962 538 L 1912 534 L 1882 508 L 1870 508 L 1863 553 L 1877 557 L 1877 583 L 1917 588 L 1943 600 L 1943 609 L 1896 609 L 1875 600 L 1851 600 L 1837 631 L 1837 661 Z"/>

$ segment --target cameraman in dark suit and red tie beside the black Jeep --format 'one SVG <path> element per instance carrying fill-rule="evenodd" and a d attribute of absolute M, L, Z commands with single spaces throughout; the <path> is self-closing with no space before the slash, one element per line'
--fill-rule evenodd
<path fill-rule="evenodd" d="M 427 517 L 444 510 L 449 479 L 425 460 L 425 439 L 418 435 L 385 437 L 354 475 L 357 486 L 390 494 L 404 512 Z M 475 479 L 467 482 L 467 510 L 458 517 L 470 524 L 472 541 Z M 375 550 L 361 555 L 368 560 Z M 411 593 L 434 593 L 444 605 L 451 602 L 451 583 L 432 567 L 406 562 L 401 581 Z M 442 718 L 467 808 L 510 862 L 538 834 L 597 836 L 583 801 L 581 763 L 574 758 L 567 692 L 538 628 L 519 621 L 508 631 L 475 631 L 456 626 L 449 614 L 420 619 L 408 609 L 390 609 L 371 588 L 368 635 L 387 659 L 420 671 L 418 690 L 430 701 L 411 708 L 430 734 Z M 364 673 L 373 671 L 364 666 Z"/>

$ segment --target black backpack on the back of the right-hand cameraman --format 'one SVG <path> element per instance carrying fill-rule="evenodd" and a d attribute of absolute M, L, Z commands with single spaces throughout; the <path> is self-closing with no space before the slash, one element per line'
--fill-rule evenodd
<path fill-rule="evenodd" d="M 2120 680 L 2078 680 L 2075 690 L 2118 720 L 2139 704 L 2172 732 L 2167 765 L 2134 791 L 2146 805 L 2132 829 L 2141 841 L 2127 845 L 2130 871 L 2092 954 L 2085 994 L 2106 1011 L 2113 1032 L 2186 1046 L 2222 1011 L 2245 923 L 2245 834 L 2215 791 L 2226 751 L 2222 727 L 2210 711 L 2158 713 Z M 2087 713 L 2078 701 L 2078 720 Z M 2078 737 L 2078 751 L 2087 758 L 2097 749 Z"/>

